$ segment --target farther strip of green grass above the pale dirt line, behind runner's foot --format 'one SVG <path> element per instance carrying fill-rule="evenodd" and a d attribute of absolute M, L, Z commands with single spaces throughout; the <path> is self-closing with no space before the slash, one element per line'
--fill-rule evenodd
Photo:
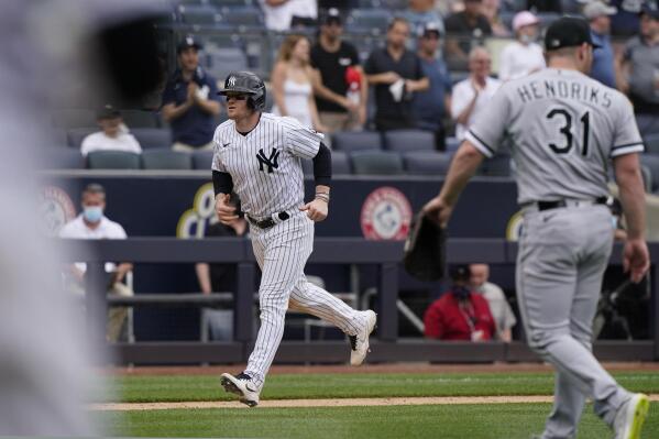
<path fill-rule="evenodd" d="M 615 373 L 614 376 L 633 392 L 659 393 L 659 373 Z M 127 403 L 232 399 L 221 389 L 219 376 L 123 376 L 111 378 L 111 385 L 117 396 L 110 399 Z M 296 374 L 271 375 L 261 397 L 551 395 L 552 392 L 553 375 L 549 373 Z"/>

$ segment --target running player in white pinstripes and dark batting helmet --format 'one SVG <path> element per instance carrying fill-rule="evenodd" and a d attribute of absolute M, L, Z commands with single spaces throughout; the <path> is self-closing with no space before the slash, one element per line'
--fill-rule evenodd
<path fill-rule="evenodd" d="M 262 271 L 261 328 L 254 351 L 243 373 L 224 373 L 221 383 L 241 403 L 254 407 L 282 341 L 286 309 L 311 314 L 345 332 L 352 365 L 362 364 L 369 352 L 376 316 L 352 309 L 307 282 L 304 274 L 314 246 L 314 222 L 327 217 L 330 199 L 331 155 L 322 134 L 293 118 L 264 113 L 265 86 L 252 73 L 230 74 L 220 95 L 227 97 L 229 120 L 213 138 L 216 211 L 221 222 L 233 221 L 237 212 L 230 194 L 238 194 Z M 316 196 L 307 204 L 301 160 L 314 161 Z"/>

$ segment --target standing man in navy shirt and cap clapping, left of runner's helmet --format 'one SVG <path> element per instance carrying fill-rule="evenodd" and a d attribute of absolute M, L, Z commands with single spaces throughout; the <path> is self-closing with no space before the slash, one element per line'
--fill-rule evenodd
<path fill-rule="evenodd" d="M 163 118 L 172 125 L 175 151 L 212 150 L 220 100 L 216 79 L 199 66 L 200 48 L 191 35 L 178 44 L 178 69 L 163 92 Z"/>

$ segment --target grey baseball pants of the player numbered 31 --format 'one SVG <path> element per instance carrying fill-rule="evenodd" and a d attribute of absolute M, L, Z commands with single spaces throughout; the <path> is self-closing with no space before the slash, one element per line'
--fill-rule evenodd
<path fill-rule="evenodd" d="M 592 353 L 592 323 L 613 244 L 606 206 L 527 208 L 517 298 L 529 347 L 556 369 L 542 439 L 574 438 L 586 397 L 608 425 L 629 394 Z"/>

